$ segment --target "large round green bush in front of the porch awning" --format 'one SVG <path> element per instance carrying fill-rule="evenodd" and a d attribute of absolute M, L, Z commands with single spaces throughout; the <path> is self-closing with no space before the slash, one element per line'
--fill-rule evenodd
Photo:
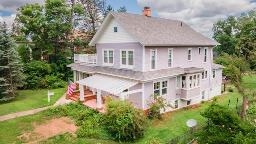
<path fill-rule="evenodd" d="M 122 100 L 108 102 L 104 114 L 104 125 L 108 132 L 121 141 L 137 140 L 144 135 L 148 124 L 142 110 Z"/>

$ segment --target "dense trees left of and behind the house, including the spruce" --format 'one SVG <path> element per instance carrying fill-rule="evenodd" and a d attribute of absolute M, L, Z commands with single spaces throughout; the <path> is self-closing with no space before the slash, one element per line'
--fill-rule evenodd
<path fill-rule="evenodd" d="M 43 5 L 25 4 L 17 10 L 11 30 L 0 25 L 0 101 L 14 98 L 17 88 L 66 86 L 68 78 L 73 79 L 66 67 L 73 60 L 68 57 L 96 53 L 88 43 L 108 12 L 114 11 L 106 0 L 46 0 Z M 126 12 L 126 7 L 118 11 Z M 75 30 L 79 37 L 74 36 Z M 25 43 L 16 48 L 14 41 Z M 80 50 L 74 52 L 74 46 Z"/>

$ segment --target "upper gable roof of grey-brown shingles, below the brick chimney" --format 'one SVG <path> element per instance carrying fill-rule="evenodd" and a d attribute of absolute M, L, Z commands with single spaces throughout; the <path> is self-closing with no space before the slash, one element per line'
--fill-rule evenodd
<path fill-rule="evenodd" d="M 95 45 L 104 25 L 114 16 L 142 45 L 213 46 L 220 43 L 192 29 L 180 20 L 148 17 L 124 12 L 109 12 L 89 45 Z M 103 27 L 103 28 L 101 28 Z"/>

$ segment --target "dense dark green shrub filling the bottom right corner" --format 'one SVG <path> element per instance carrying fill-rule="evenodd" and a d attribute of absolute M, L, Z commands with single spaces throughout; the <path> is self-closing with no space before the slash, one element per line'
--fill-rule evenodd
<path fill-rule="evenodd" d="M 212 121 L 198 133 L 199 144 L 255 144 L 256 128 L 236 113 L 236 110 L 212 102 L 201 113 Z"/>

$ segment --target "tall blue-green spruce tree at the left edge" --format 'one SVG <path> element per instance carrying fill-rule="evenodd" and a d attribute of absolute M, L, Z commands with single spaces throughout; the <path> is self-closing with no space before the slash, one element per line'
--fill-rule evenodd
<path fill-rule="evenodd" d="M 15 48 L 6 24 L 0 23 L 0 101 L 14 98 L 17 87 L 25 84 L 22 64 Z"/>

